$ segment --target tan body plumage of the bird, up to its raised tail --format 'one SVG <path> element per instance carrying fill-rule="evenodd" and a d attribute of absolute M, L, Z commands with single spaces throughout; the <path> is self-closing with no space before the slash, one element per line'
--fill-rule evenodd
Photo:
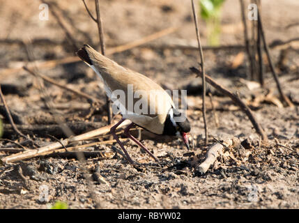
<path fill-rule="evenodd" d="M 112 92 L 116 90 L 127 93 L 129 84 L 132 84 L 134 94 L 137 92 L 146 93 L 147 97 L 134 98 L 133 100 L 133 105 L 136 102 L 141 105 L 148 105 L 146 114 L 136 113 L 132 107 L 128 106 L 130 98 L 126 97 L 125 101 L 121 100 L 121 104 L 128 112 L 135 113 L 123 114 L 123 118 L 128 118 L 133 123 L 155 134 L 162 134 L 165 118 L 171 107 L 174 107 L 174 102 L 161 86 L 138 72 L 123 68 L 118 63 L 95 51 L 89 45 L 84 45 L 77 54 L 101 77 L 109 98 L 111 98 Z M 155 93 L 158 94 L 155 95 Z"/>

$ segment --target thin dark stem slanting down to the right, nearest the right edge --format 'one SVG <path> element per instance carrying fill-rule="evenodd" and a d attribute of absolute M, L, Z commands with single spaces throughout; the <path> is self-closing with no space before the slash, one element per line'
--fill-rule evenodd
<path fill-rule="evenodd" d="M 280 85 L 277 73 L 276 73 L 274 65 L 273 65 L 273 61 L 272 61 L 271 56 L 270 56 L 269 47 L 266 43 L 266 36 L 265 36 L 264 31 L 263 31 L 263 21 L 261 20 L 261 13 L 260 13 L 259 9 L 258 9 L 258 22 L 259 22 L 259 29 L 261 31 L 261 38 L 263 40 L 263 47 L 265 48 L 265 51 L 266 51 L 266 54 L 267 54 L 267 57 L 268 57 L 268 62 L 269 62 L 269 65 L 270 65 L 270 69 L 271 69 L 271 72 L 272 72 L 273 77 L 275 79 L 275 82 L 277 84 L 277 89 L 279 91 L 280 97 L 282 98 L 282 101 L 286 102 L 286 104 L 289 107 L 294 107 L 293 103 L 289 100 L 289 98 L 286 97 L 286 95 L 284 95 L 284 92 L 282 91 L 282 86 Z"/>

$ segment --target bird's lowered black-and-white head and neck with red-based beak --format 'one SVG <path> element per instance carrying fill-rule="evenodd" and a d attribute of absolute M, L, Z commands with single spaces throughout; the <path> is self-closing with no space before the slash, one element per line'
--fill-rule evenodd
<path fill-rule="evenodd" d="M 183 118 L 181 112 L 178 112 L 174 108 L 170 109 L 169 114 L 167 114 L 167 118 L 164 122 L 163 134 L 177 136 L 181 135 L 185 145 L 189 149 L 190 146 L 188 136 L 190 134 L 190 130 L 190 122 L 187 117 Z"/>

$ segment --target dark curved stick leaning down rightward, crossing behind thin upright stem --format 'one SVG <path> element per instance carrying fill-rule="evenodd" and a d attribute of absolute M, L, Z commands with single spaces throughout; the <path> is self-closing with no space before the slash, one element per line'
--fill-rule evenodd
<path fill-rule="evenodd" d="M 197 68 L 190 68 L 190 70 L 192 70 L 192 72 L 196 73 L 197 75 L 202 76 L 202 72 L 200 72 Z M 238 105 L 238 107 L 240 107 L 240 109 L 243 112 L 245 112 L 247 117 L 250 119 L 252 125 L 254 126 L 256 132 L 261 135 L 261 139 L 263 139 L 264 141 L 268 140 L 266 133 L 263 131 L 263 128 L 261 128 L 261 125 L 256 121 L 256 118 L 254 117 L 254 114 L 252 114 L 251 109 L 247 105 L 245 105 L 245 103 L 242 100 L 240 100 L 240 98 L 238 98 L 237 95 L 234 95 L 220 84 L 217 84 L 217 82 L 215 82 L 215 80 L 213 80 L 208 75 L 206 75 L 206 82 L 208 82 L 208 84 L 212 85 L 215 89 L 217 89 L 217 91 L 220 91 L 224 95 L 227 95 L 229 98 L 231 98 L 231 100 L 233 100 L 233 102 L 236 105 Z"/>

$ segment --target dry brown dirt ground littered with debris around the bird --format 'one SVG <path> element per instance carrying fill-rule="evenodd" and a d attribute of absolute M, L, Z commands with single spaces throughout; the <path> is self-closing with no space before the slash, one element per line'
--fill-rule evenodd
<path fill-rule="evenodd" d="M 89 19 L 82 1 L 54 2 L 58 6 L 57 13 L 78 46 L 82 43 L 98 44 L 97 28 Z M 87 2 L 93 9 L 93 1 Z M 24 70 L 10 72 L 9 75 L 3 72 L 8 68 L 22 67 L 28 61 L 22 41 L 31 52 L 30 58 L 38 61 L 63 59 L 74 55 L 75 49 L 66 40 L 52 14 L 49 21 L 38 20 L 38 1 L 2 0 L 0 3 L 0 82 L 20 130 L 29 134 L 36 143 L 46 145 L 65 137 L 55 117 L 67 122 L 75 134 L 107 125 L 102 106 L 91 111 L 85 98 L 42 83 Z M 164 89 L 187 89 L 187 115 L 192 123 L 194 149 L 187 151 L 181 139 L 153 140 L 150 134 L 142 131 L 141 141 L 159 157 L 160 167 L 132 141 L 125 142 L 125 145 L 132 159 L 141 163 L 139 167 L 132 167 L 118 153 L 107 159 L 86 157 L 83 163 L 75 157 L 56 155 L 2 165 L 0 208 L 47 208 L 56 200 L 66 201 L 69 208 L 95 208 L 96 198 L 100 208 L 299 208 L 298 48 L 297 52 L 290 50 L 286 56 L 286 68 L 279 72 L 282 88 L 295 108 L 278 107 L 273 101 L 266 100 L 254 104 L 254 99 L 266 95 L 268 90 L 278 97 L 277 88 L 268 68 L 266 89 L 250 91 L 246 87 L 246 63 L 237 69 L 230 66 L 240 49 L 204 51 L 206 72 L 231 91 L 240 93 L 240 97 L 252 107 L 269 141 L 263 143 L 259 139 L 247 116 L 229 98 L 210 89 L 219 118 L 219 125 L 216 125 L 207 98 L 210 135 L 220 140 L 226 137 L 238 137 L 240 141 L 248 139 L 252 148 L 229 148 L 229 156 L 221 157 L 206 174 L 201 175 L 194 168 L 192 159 L 197 155 L 197 162 L 203 161 L 207 148 L 216 142 L 210 137 L 208 146 L 204 146 L 201 81 L 189 71 L 191 66 L 197 66 L 198 52 L 160 47 L 171 44 L 196 46 L 190 1 L 105 0 L 100 1 L 100 7 L 108 48 L 170 26 L 179 27 L 175 33 L 155 40 L 147 47 L 136 47 L 109 57 L 146 74 Z M 298 38 L 297 0 L 264 0 L 262 8 L 268 43 Z M 287 28 L 289 24 L 295 25 Z M 206 24 L 201 21 L 200 27 L 206 45 Z M 243 44 L 237 0 L 227 0 L 224 4 L 220 44 Z M 280 50 L 271 49 L 271 53 L 277 63 Z M 52 69 L 40 68 L 37 72 L 105 102 L 102 84 L 82 62 L 58 65 Z M 49 109 L 49 104 L 52 109 Z M 13 132 L 3 107 L 0 112 L 5 123 L 3 138 L 24 141 Z M 109 137 L 93 141 L 104 140 L 109 140 Z M 34 148 L 32 144 L 25 146 Z M 5 147 L 18 148 L 8 141 L 0 141 L 0 148 Z M 112 144 L 98 144 L 88 149 L 113 152 Z M 1 158 L 11 154 L 0 151 Z M 83 168 L 89 170 L 93 189 L 84 178 Z M 20 175 L 20 169 L 24 177 Z M 43 201 L 44 197 L 47 201 Z"/>

